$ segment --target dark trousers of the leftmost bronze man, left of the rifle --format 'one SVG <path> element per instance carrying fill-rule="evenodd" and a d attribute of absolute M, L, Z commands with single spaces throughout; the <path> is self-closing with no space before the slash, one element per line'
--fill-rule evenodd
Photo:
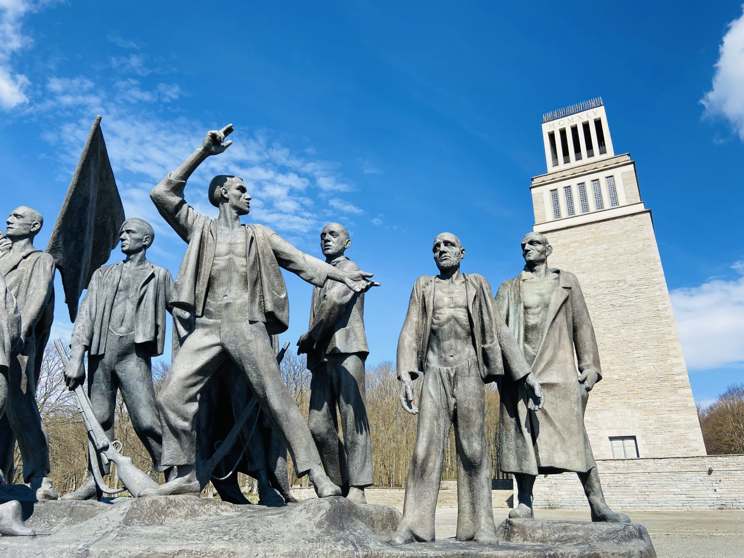
<path fill-rule="evenodd" d="M 10 359 L 5 414 L 18 439 L 23 460 L 23 479 L 49 475 L 49 442 L 42 417 L 36 406 L 36 385 L 33 382 L 33 343 L 26 347 L 27 355 Z"/>

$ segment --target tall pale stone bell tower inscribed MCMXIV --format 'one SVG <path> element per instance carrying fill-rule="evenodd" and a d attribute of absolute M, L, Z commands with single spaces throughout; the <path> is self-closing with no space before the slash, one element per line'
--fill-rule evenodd
<path fill-rule="evenodd" d="M 548 173 L 530 190 L 551 267 L 573 272 L 603 379 L 586 409 L 597 459 L 705 455 L 682 345 L 635 162 L 615 155 L 601 97 L 542 117 Z"/>

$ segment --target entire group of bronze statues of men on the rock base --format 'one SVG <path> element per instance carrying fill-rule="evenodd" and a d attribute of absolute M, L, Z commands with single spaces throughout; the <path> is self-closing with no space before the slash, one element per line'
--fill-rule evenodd
<path fill-rule="evenodd" d="M 223 500 L 243 504 L 237 473 L 245 472 L 257 479 L 260 503 L 295 501 L 287 481 L 289 452 L 298 477 L 309 475 L 318 497 L 366 504 L 373 467 L 364 305 L 365 292 L 378 283 L 345 255 L 351 240 L 338 223 L 321 231 L 325 260 L 304 254 L 263 225 L 241 224 L 251 196 L 240 177 L 212 179 L 208 198 L 219 208 L 217 219 L 187 204 L 190 175 L 230 146 L 225 138 L 232 130 L 228 125 L 208 132 L 150 193 L 187 244 L 176 280 L 147 260 L 153 227 L 137 218 L 121 224 L 124 260 L 89 274 L 65 382 L 80 389 L 87 375 L 94 421 L 109 440 L 121 391 L 132 426 L 165 480 L 136 493 L 127 487 L 134 496 L 199 496 L 211 481 Z M 33 247 L 42 224 L 37 211 L 17 208 L 0 236 L 0 482 L 13 479 L 17 441 L 24 482 L 36 498 L 56 499 L 35 397 L 54 310 L 55 261 Z M 589 391 L 601 371 L 577 278 L 548 267 L 552 248 L 536 233 L 522 240 L 525 269 L 502 283 L 496 296 L 484 277 L 461 272 L 465 249 L 454 234 L 438 235 L 432 250 L 438 274 L 414 283 L 397 348 L 400 404 L 417 414 L 417 438 L 403 519 L 391 543 L 434 540 L 452 427 L 457 539 L 496 541 L 485 428 L 488 382 L 498 383 L 501 396 L 499 463 L 513 473 L 519 493 L 510 517 L 533 517 L 538 474 L 573 471 L 593 521 L 629 522 L 604 501 L 583 427 Z M 289 324 L 280 269 L 313 285 L 310 324 L 297 342 L 312 371 L 307 421 L 280 374 L 277 336 Z M 173 318 L 173 362 L 156 396 L 152 359 L 164 352 L 167 312 Z M 418 376 L 423 379 L 417 397 L 412 382 Z M 222 452 L 221 440 L 228 444 Z M 111 492 L 100 481 L 109 460 L 93 443 L 89 469 L 88 481 L 62 499 L 100 499 Z M 15 502 L 0 505 L 0 533 L 28 534 L 10 504 Z"/>

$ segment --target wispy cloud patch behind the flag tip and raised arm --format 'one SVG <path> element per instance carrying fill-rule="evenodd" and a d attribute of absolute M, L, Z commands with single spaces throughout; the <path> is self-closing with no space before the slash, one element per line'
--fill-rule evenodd
<path fill-rule="evenodd" d="M 103 135 L 126 214 L 140 215 L 158 234 L 173 237 L 149 201 L 150 188 L 193 151 L 210 127 L 158 109 L 158 103 L 182 94 L 178 84 L 161 83 L 155 89 L 144 89 L 134 78 L 115 81 L 106 94 L 86 77 L 53 77 L 48 80 L 45 99 L 36 105 L 35 116 L 47 119 L 42 118 L 42 138 L 55 144 L 62 163 L 71 171 L 92 116 L 103 115 Z M 315 198 L 354 189 L 339 163 L 312 158 L 305 149 L 292 150 L 273 140 L 266 130 L 251 134 L 237 127 L 231 139 L 234 143 L 224 154 L 209 158 L 190 179 L 187 199 L 198 211 L 216 212 L 205 191 L 211 176 L 236 174 L 243 177 L 254 198 L 251 220 L 279 231 L 306 234 L 320 225 Z M 362 213 L 353 203 L 339 198 L 327 203 L 339 211 Z"/>

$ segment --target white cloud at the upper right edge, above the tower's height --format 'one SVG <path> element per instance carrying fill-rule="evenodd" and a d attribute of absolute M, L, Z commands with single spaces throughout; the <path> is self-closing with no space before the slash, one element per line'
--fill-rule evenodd
<path fill-rule="evenodd" d="M 728 24 L 715 68 L 713 89 L 700 100 L 705 115 L 727 118 L 744 140 L 744 13 Z"/>

